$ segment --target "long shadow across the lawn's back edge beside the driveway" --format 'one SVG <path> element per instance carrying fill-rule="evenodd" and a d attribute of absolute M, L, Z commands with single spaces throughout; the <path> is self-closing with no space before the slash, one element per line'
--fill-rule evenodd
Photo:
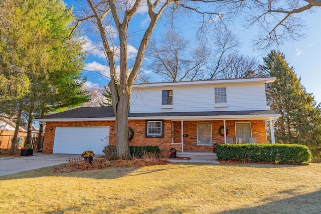
<path fill-rule="evenodd" d="M 124 176 L 137 176 L 142 174 L 149 174 L 158 171 L 166 170 L 175 170 L 181 168 L 194 167 L 196 165 L 187 165 L 187 166 L 177 166 L 177 167 L 167 167 L 167 168 L 157 168 L 157 169 L 147 169 L 140 170 L 137 173 L 133 173 L 135 170 L 138 170 L 142 167 L 118 167 L 118 168 L 106 168 L 106 169 L 96 169 L 88 171 L 76 171 L 76 172 L 61 172 L 53 173 L 53 169 L 60 167 L 65 164 L 60 164 L 56 166 L 49 166 L 40 169 L 34 169 L 30 171 L 19 172 L 11 175 L 4 175 L 0 177 L 0 180 L 13 180 L 13 179 L 24 179 L 24 178 L 37 178 L 37 177 L 47 177 L 47 176 L 56 176 L 56 177 L 81 177 L 81 178 L 94 178 L 94 179 L 116 179 Z M 172 165 L 172 164 L 171 164 Z M 177 164 L 175 164 L 177 165 Z M 157 165 L 156 165 L 157 166 Z M 164 167 L 166 165 L 158 165 L 159 167 Z M 146 168 L 149 166 L 145 166 Z M 150 166 L 153 167 L 153 166 Z"/>

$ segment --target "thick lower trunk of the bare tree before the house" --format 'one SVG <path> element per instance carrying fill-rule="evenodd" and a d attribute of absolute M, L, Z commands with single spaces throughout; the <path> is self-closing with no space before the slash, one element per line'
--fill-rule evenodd
<path fill-rule="evenodd" d="M 129 95 L 121 96 L 116 108 L 116 149 L 118 159 L 132 159 L 128 147 L 128 108 Z"/>

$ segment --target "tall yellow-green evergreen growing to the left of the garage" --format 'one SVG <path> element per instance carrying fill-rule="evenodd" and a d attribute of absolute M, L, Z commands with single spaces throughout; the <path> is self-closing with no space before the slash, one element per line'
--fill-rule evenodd
<path fill-rule="evenodd" d="M 30 143 L 34 116 L 88 100 L 81 89 L 83 44 L 72 34 L 72 10 L 60 0 L 4 0 L 0 11 L 0 109 L 17 114 L 16 129 L 26 114 Z"/>

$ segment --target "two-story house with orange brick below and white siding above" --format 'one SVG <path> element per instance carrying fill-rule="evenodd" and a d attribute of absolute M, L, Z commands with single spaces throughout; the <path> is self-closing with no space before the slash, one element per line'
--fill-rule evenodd
<path fill-rule="evenodd" d="M 276 78 L 151 83 L 132 88 L 130 145 L 162 151 L 212 151 L 213 143 L 267 143 L 265 122 L 281 115 L 267 110 L 265 83 Z M 101 154 L 115 144 L 112 107 L 77 108 L 37 119 L 46 122 L 43 153 Z M 226 130 L 224 132 L 224 130 Z M 108 137 L 107 137 L 108 136 Z M 272 143 L 274 143 L 274 138 Z M 106 138 L 107 137 L 107 138 Z"/>

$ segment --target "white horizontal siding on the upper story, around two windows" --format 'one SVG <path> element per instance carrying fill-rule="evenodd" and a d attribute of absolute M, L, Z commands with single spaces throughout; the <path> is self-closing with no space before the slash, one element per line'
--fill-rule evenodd
<path fill-rule="evenodd" d="M 228 107 L 215 107 L 214 88 L 226 87 Z M 162 90 L 173 90 L 173 108 L 162 109 Z M 133 88 L 130 113 L 266 110 L 263 82 Z"/>

